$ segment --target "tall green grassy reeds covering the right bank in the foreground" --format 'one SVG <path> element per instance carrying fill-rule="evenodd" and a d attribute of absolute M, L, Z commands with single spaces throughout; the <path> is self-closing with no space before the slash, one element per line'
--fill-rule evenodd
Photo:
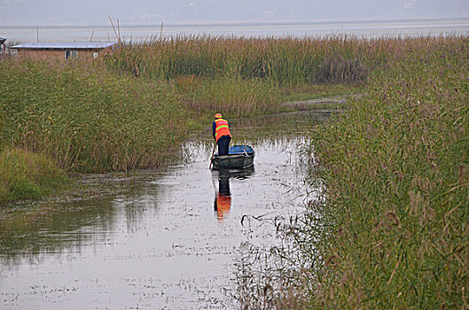
<path fill-rule="evenodd" d="M 324 169 L 310 180 L 324 184 L 324 201 L 286 229 L 293 249 L 279 256 L 281 280 L 262 275 L 264 291 L 246 303 L 469 305 L 468 43 L 411 51 L 317 129 L 309 152 Z M 283 284 L 271 294 L 273 283 Z"/>

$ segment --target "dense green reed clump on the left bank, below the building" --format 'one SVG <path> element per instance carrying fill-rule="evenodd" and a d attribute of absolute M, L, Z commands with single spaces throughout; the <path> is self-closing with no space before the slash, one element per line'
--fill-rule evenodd
<path fill-rule="evenodd" d="M 187 128 L 168 86 L 99 63 L 3 62 L 0 147 L 44 152 L 72 172 L 157 167 Z"/>

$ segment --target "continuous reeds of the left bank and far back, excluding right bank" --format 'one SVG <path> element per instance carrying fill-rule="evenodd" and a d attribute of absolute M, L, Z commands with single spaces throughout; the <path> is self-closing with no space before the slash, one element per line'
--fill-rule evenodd
<path fill-rule="evenodd" d="M 44 152 L 68 172 L 158 167 L 214 111 L 259 115 L 300 109 L 285 99 L 356 94 L 366 76 L 415 50 L 460 40 L 192 36 L 127 44 L 103 62 L 7 59 L 0 148 Z"/>

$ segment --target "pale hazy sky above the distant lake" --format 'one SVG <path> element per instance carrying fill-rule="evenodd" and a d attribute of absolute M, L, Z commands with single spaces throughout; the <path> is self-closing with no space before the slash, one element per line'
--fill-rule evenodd
<path fill-rule="evenodd" d="M 0 0 L 0 26 L 468 18 L 469 0 Z"/>

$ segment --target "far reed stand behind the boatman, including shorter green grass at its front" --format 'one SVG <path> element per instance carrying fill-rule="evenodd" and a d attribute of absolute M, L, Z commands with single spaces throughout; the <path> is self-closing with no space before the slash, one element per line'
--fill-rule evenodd
<path fill-rule="evenodd" d="M 168 82 L 198 116 L 219 111 L 239 117 L 285 110 L 282 101 L 292 98 L 286 93 L 291 89 L 308 93 L 317 83 L 324 85 L 322 89 L 346 84 L 346 93 L 354 92 L 373 71 L 391 66 L 412 50 L 440 43 L 442 38 L 435 37 L 181 36 L 126 43 L 106 59 L 106 66 L 141 80 Z M 343 89 L 334 91 L 343 93 Z"/>

